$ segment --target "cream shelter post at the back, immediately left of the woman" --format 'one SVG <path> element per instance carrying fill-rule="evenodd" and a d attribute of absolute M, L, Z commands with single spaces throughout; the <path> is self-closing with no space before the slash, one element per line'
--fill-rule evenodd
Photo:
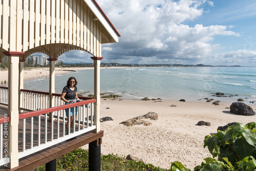
<path fill-rule="evenodd" d="M 55 58 L 48 58 L 49 60 L 49 66 L 50 66 L 50 80 L 49 80 L 49 108 L 55 107 L 55 100 L 52 93 L 55 93 L 55 61 L 57 59 Z M 52 120 L 52 113 L 49 115 L 49 120 Z"/>

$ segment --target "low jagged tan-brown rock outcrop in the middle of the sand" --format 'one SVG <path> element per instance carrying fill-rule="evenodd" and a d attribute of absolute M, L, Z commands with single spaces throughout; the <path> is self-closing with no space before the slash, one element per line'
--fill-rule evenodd
<path fill-rule="evenodd" d="M 134 125 L 141 125 L 141 124 L 148 126 L 152 124 L 151 122 L 143 119 L 158 120 L 158 114 L 156 114 L 155 112 L 148 112 L 145 115 L 137 116 L 135 118 L 122 121 L 120 124 L 124 124 L 126 126 L 134 126 Z"/>

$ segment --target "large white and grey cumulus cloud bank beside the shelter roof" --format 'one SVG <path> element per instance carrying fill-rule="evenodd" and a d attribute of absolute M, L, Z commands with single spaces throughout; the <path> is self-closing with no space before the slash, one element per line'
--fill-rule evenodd
<path fill-rule="evenodd" d="M 223 49 L 212 43 L 216 36 L 241 36 L 229 30 L 234 27 L 231 25 L 196 24 L 191 27 L 184 24 L 202 16 L 205 12 L 202 6 L 213 7 L 212 1 L 97 2 L 121 35 L 117 44 L 103 45 L 102 54 L 110 62 L 195 63 Z"/>

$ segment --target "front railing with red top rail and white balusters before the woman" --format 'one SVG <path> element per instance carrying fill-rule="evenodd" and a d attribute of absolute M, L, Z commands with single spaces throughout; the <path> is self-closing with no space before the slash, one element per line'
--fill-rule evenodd
<path fill-rule="evenodd" d="M 54 108 L 19 114 L 19 127 L 22 129 L 19 129 L 18 133 L 18 158 L 23 158 L 62 141 L 96 129 L 96 125 L 93 125 L 94 102 L 96 102 L 96 99 L 90 99 L 77 103 L 56 106 Z M 63 118 L 60 118 L 60 112 L 63 112 L 65 109 L 69 109 L 70 111 L 71 108 L 74 108 L 75 112 L 76 106 L 78 115 L 76 116 L 76 119 L 73 120 L 73 124 L 75 126 L 73 129 L 71 128 L 71 118 L 69 116 L 67 120 L 69 121 L 68 129 L 70 131 L 68 131 L 68 134 L 66 134 L 67 121 L 65 119 L 63 120 Z M 90 108 L 88 106 L 90 106 Z M 49 113 L 54 114 L 56 118 L 54 115 L 49 116 Z M 89 114 L 91 114 L 90 119 Z M 51 117 L 51 119 L 49 117 Z M 4 143 L 3 134 L 5 133 L 3 126 L 7 122 L 9 122 L 8 116 L 6 116 L 6 118 L 0 118 L 0 144 L 2 145 Z M 26 129 L 29 129 L 30 132 L 26 132 Z M 11 133 L 8 131 L 8 134 Z M 3 146 L 0 147 L 0 165 L 4 165 L 9 163 L 9 158 L 4 157 L 5 153 L 3 152 Z"/>

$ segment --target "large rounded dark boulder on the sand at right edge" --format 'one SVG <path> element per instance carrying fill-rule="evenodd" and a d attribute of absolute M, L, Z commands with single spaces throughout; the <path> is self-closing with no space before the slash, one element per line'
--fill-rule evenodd
<path fill-rule="evenodd" d="M 255 115 L 253 109 L 245 103 L 234 102 L 230 105 L 230 113 L 236 115 L 252 116 Z"/>

